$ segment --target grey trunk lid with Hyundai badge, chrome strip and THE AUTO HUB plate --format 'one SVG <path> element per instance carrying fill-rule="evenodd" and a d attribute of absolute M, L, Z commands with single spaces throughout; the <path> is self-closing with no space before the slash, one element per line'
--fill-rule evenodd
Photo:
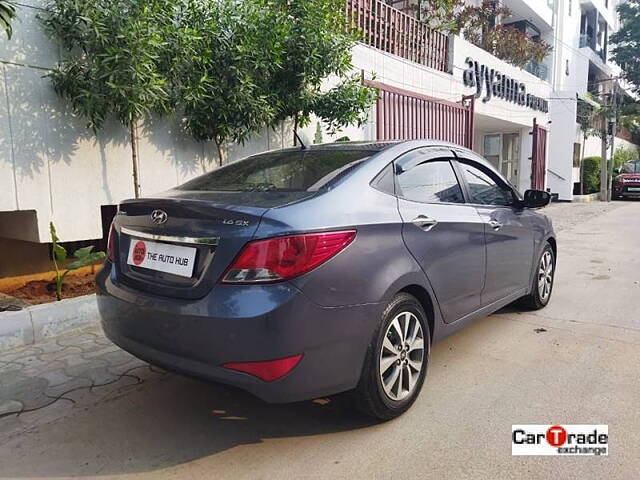
<path fill-rule="evenodd" d="M 265 212 L 298 199 L 290 194 L 249 198 L 247 192 L 170 191 L 162 198 L 125 201 L 114 223 L 117 272 L 122 283 L 138 290 L 201 298 L 251 240 Z M 166 219 L 154 222 L 154 212 Z M 144 262 L 137 261 L 142 258 Z M 188 269 L 178 265 L 181 261 L 190 262 Z"/>

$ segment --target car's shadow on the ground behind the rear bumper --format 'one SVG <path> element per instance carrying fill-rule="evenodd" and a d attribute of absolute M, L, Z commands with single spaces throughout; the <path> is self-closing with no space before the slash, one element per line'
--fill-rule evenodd
<path fill-rule="evenodd" d="M 0 475 L 152 472 L 267 439 L 376 423 L 354 411 L 346 395 L 270 405 L 240 390 L 167 374 L 0 444 Z"/>

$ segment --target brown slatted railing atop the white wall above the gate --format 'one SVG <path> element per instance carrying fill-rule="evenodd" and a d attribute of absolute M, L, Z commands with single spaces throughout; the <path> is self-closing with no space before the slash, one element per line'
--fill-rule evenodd
<path fill-rule="evenodd" d="M 449 71 L 449 37 L 382 0 L 347 0 L 347 18 L 362 42 L 427 67 Z"/>

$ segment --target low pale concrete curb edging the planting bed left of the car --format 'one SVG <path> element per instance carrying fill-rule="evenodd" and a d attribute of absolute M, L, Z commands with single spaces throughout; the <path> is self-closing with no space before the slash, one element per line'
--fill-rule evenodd
<path fill-rule="evenodd" d="M 98 323 L 96 296 L 68 298 L 0 313 L 0 352 Z"/>

